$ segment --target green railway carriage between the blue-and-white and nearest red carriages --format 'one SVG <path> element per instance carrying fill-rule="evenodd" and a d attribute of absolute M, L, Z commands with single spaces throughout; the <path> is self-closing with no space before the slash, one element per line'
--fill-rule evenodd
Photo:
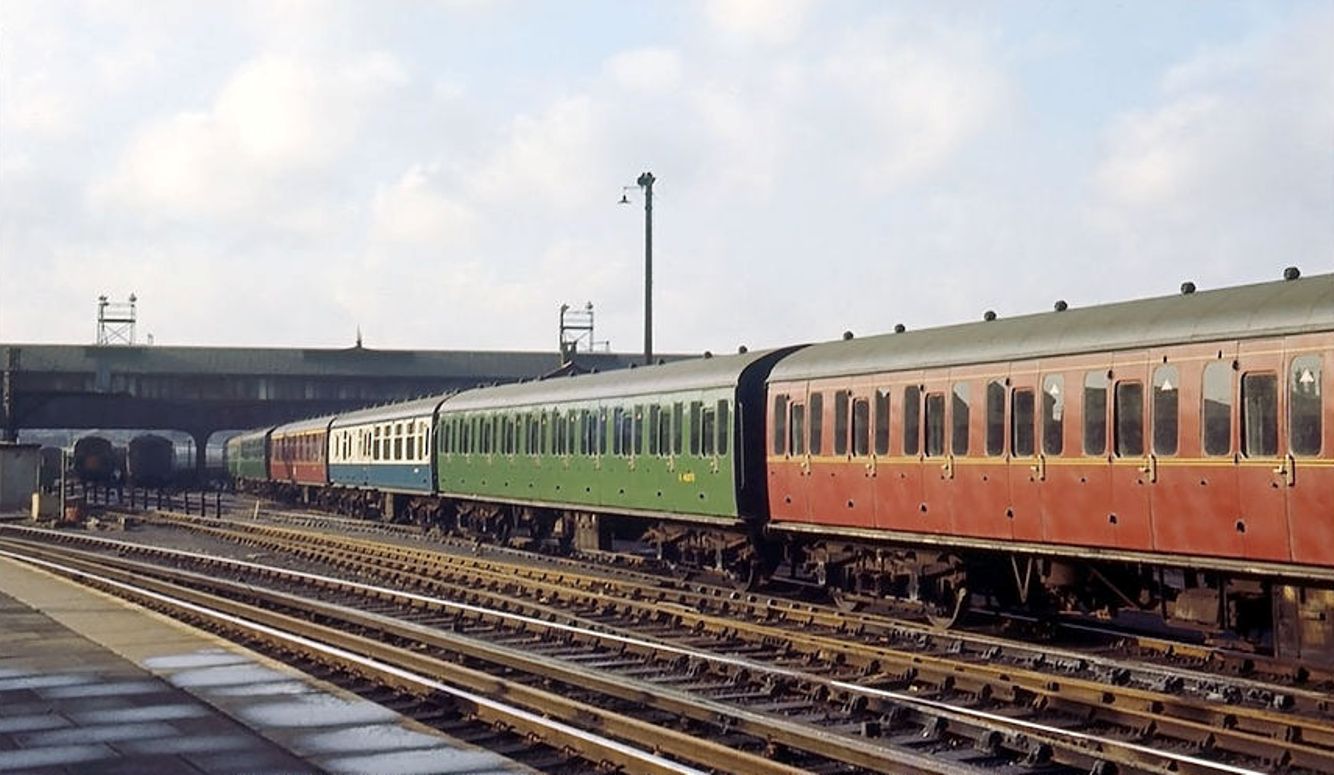
<path fill-rule="evenodd" d="M 788 351 L 467 391 L 438 414 L 438 491 L 496 534 L 639 536 L 664 559 L 750 572 L 766 514 L 763 377 Z"/>

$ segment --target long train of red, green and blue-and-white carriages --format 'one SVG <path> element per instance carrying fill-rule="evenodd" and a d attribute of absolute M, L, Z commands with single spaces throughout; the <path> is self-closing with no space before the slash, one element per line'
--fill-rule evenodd
<path fill-rule="evenodd" d="M 739 584 L 1334 663 L 1334 275 L 486 387 L 233 438 L 239 486 Z M 614 543 L 615 542 L 615 543 Z"/>

